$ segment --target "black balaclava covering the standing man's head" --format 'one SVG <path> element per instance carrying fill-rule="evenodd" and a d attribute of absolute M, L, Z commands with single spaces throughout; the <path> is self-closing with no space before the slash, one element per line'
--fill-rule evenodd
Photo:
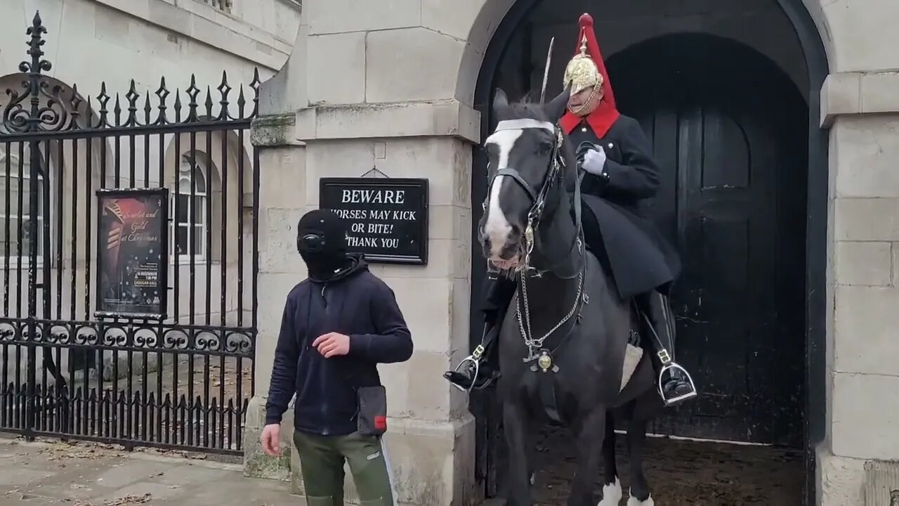
<path fill-rule="evenodd" d="M 299 219 L 297 249 L 309 277 L 326 281 L 347 264 L 346 227 L 334 212 L 316 209 Z"/>

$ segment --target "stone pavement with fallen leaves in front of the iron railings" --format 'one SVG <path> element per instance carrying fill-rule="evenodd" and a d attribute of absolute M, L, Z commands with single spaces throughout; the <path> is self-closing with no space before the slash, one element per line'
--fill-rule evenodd
<path fill-rule="evenodd" d="M 0 437 L 3 506 L 301 506 L 289 483 L 245 478 L 238 462 L 127 452 L 89 442 Z"/>

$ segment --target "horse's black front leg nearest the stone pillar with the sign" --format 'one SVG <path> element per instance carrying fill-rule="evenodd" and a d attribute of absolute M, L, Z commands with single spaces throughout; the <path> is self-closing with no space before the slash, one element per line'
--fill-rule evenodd
<path fill-rule="evenodd" d="M 503 436 L 509 458 L 506 481 L 509 486 L 508 506 L 530 506 L 530 466 L 528 449 L 528 412 L 520 400 L 503 402 Z"/>

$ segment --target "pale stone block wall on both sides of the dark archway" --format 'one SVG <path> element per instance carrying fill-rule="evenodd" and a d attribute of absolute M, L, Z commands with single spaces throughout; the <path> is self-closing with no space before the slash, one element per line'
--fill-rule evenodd
<path fill-rule="evenodd" d="M 375 268 L 396 290 L 416 343 L 408 363 L 383 368 L 387 442 L 404 503 L 457 505 L 476 497 L 466 399 L 440 372 L 467 353 L 469 148 L 480 139 L 471 106 L 487 44 L 513 1 L 309 0 L 296 50 L 265 86 L 267 110 L 286 114 L 254 130 L 268 197 L 260 212 L 261 321 L 268 323 L 258 349 L 257 415 L 277 333 L 272 322 L 303 276 L 293 227 L 316 204 L 317 178 L 378 167 L 432 181 L 431 265 Z M 816 448 L 817 503 L 875 506 L 889 503 L 889 483 L 899 480 L 887 463 L 899 460 L 899 345 L 891 334 L 899 302 L 899 73 L 890 70 L 899 68 L 899 32 L 891 29 L 899 3 L 803 1 L 832 74 L 820 90 L 823 128 L 831 129 L 831 185 L 827 433 Z M 796 69 L 788 73 L 796 79 Z M 258 416 L 248 420 L 246 440 L 260 428 Z M 251 451 L 248 461 L 254 458 Z"/>

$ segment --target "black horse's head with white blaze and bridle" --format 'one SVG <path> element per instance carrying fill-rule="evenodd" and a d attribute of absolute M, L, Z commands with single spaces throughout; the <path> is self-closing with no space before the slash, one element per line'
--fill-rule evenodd
<path fill-rule="evenodd" d="M 556 122 L 565 113 L 568 90 L 547 104 L 509 104 L 496 90 L 496 130 L 485 140 L 490 182 L 479 223 L 484 256 L 503 270 L 521 264 L 528 225 L 553 212 L 564 192 L 569 158 Z"/>

